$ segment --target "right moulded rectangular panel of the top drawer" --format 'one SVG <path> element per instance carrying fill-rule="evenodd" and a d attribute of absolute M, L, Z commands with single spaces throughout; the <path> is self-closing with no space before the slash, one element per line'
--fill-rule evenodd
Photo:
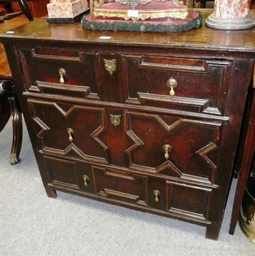
<path fill-rule="evenodd" d="M 125 101 L 223 115 L 231 65 L 228 60 L 124 56 Z"/>

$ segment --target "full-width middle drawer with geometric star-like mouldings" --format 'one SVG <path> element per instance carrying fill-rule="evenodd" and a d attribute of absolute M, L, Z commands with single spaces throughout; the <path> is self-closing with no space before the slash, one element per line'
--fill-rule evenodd
<path fill-rule="evenodd" d="M 214 182 L 222 122 L 36 99 L 27 103 L 46 154 Z"/>

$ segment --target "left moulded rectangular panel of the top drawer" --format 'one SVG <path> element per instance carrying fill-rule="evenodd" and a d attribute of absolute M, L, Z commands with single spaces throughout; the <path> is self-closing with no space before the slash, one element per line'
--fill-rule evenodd
<path fill-rule="evenodd" d="M 99 99 L 97 53 L 70 49 L 19 49 L 26 91 Z"/>

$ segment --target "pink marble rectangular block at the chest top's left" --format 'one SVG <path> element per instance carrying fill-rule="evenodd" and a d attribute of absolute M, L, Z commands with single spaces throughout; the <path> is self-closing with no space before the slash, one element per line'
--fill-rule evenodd
<path fill-rule="evenodd" d="M 65 22 L 65 20 L 68 22 L 68 18 L 72 20 L 73 17 L 77 17 L 87 9 L 87 0 L 51 0 L 50 3 L 47 4 L 49 15 L 47 21 L 50 22 L 50 18 L 53 18 L 54 22 L 61 22 L 61 19 L 64 18 L 62 22 Z M 56 20 L 58 18 L 59 21 Z"/>

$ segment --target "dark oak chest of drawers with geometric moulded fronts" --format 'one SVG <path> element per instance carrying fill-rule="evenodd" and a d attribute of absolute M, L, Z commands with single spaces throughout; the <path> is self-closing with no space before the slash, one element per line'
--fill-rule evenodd
<path fill-rule="evenodd" d="M 48 196 L 189 221 L 217 239 L 254 29 L 143 34 L 38 19 L 0 40 Z"/>

